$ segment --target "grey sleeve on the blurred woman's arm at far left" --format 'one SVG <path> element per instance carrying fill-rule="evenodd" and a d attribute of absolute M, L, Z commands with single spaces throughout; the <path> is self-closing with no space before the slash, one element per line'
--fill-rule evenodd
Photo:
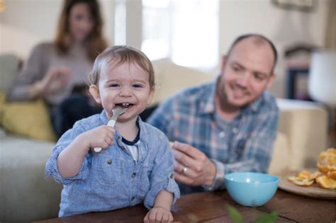
<path fill-rule="evenodd" d="M 23 69 L 16 76 L 9 92 L 9 101 L 24 101 L 28 99 L 28 89 L 35 81 L 43 79 L 46 65 L 46 44 L 36 45 L 30 53 Z"/>

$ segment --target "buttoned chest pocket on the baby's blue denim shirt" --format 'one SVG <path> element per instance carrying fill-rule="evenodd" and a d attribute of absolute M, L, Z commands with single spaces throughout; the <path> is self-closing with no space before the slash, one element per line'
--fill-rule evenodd
<path fill-rule="evenodd" d="M 121 182 L 123 160 L 106 156 L 94 156 L 92 159 L 93 178 L 101 185 L 114 186 Z"/>

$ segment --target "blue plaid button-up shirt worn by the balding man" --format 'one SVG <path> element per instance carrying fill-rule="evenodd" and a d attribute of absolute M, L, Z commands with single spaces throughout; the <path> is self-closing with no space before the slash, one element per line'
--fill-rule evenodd
<path fill-rule="evenodd" d="M 216 113 L 214 98 L 215 83 L 195 86 L 169 98 L 147 120 L 170 141 L 191 144 L 215 164 L 210 187 L 180 184 L 181 193 L 225 188 L 225 173 L 267 172 L 279 118 L 275 98 L 263 93 L 230 122 Z"/>

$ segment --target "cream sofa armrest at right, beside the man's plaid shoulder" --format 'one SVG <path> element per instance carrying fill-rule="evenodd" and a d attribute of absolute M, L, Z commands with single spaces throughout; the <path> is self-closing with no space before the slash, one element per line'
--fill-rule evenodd
<path fill-rule="evenodd" d="M 327 111 L 318 103 L 308 101 L 278 98 L 277 104 L 278 131 L 284 134 L 289 147 L 288 168 L 316 167 L 318 154 L 327 144 Z"/>

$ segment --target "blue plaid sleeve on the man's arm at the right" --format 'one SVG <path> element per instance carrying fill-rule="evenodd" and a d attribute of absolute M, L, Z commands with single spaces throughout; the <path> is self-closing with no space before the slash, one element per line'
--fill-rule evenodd
<path fill-rule="evenodd" d="M 259 115 L 257 125 L 254 126 L 250 138 L 244 146 L 244 154 L 239 161 L 224 164 L 212 159 L 215 164 L 215 179 L 210 186 L 204 185 L 206 190 L 218 190 L 225 188 L 225 173 L 237 171 L 252 171 L 266 173 L 271 160 L 273 142 L 279 120 L 279 108 L 276 106 Z M 232 148 L 235 149 L 235 148 Z"/>

